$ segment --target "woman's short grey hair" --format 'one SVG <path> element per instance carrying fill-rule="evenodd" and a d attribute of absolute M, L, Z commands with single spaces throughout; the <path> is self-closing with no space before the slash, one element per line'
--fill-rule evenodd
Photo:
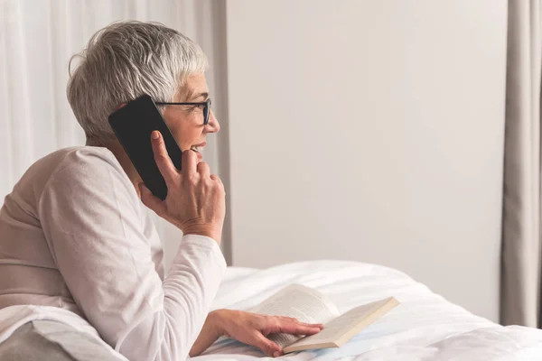
<path fill-rule="evenodd" d="M 71 71 L 71 62 L 80 59 Z M 207 68 L 201 48 L 161 23 L 112 23 L 96 32 L 70 59 L 66 90 L 89 145 L 115 139 L 107 117 L 117 106 L 148 94 L 170 101 L 192 74 Z"/>

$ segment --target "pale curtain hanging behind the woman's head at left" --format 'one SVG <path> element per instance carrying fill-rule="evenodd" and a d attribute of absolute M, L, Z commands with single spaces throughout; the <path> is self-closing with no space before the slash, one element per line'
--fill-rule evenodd
<path fill-rule="evenodd" d="M 227 183 L 223 0 L 0 0 L 2 199 L 37 159 L 85 143 L 66 99 L 68 61 L 98 29 L 127 19 L 164 23 L 191 37 L 207 53 L 207 80 L 222 132 L 208 138 L 204 158 L 211 171 Z M 156 219 L 156 225 L 164 241 L 167 266 L 181 235 L 162 220 Z M 224 251 L 228 255 L 228 225 L 225 232 Z"/>

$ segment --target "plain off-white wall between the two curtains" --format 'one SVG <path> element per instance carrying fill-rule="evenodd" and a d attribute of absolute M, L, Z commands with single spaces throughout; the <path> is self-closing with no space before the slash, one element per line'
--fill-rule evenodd
<path fill-rule="evenodd" d="M 499 314 L 505 0 L 229 0 L 232 261 L 384 264 Z"/>

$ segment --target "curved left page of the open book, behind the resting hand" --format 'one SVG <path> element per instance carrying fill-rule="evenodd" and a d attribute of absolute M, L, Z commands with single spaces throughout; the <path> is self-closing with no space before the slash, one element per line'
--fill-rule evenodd
<path fill-rule="evenodd" d="M 327 323 L 340 315 L 337 307 L 321 292 L 300 284 L 286 287 L 249 311 L 262 315 L 294 317 L 307 323 Z M 280 347 L 285 347 L 303 337 L 275 334 L 268 338 Z"/>

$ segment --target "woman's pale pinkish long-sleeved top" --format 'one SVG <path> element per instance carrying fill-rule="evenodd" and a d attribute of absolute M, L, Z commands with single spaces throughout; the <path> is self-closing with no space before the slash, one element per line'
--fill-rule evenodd
<path fill-rule="evenodd" d="M 0 311 L 70 310 L 132 361 L 185 359 L 226 263 L 206 236 L 183 236 L 165 277 L 162 255 L 113 153 L 90 146 L 51 153 L 0 209 Z"/>

